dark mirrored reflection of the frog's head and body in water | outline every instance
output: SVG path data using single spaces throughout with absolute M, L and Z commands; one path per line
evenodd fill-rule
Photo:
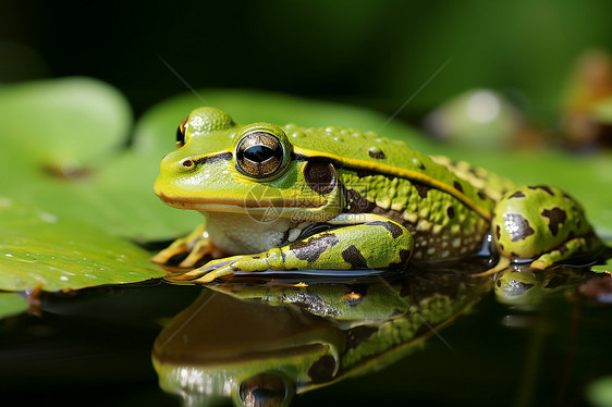
M 219 397 L 236 406 L 286 406 L 295 393 L 396 361 L 477 303 L 492 282 L 456 272 L 372 280 L 205 288 L 156 340 L 161 387 L 191 406 Z

